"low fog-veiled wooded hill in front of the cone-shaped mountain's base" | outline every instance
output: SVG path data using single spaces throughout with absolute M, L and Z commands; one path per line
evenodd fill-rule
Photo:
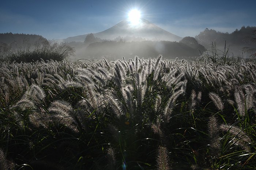
M 192 40 L 191 40 L 192 39 Z M 194 41 L 193 41 L 194 40 Z M 193 42 L 192 42 L 193 41 Z M 186 37 L 178 42 L 171 41 L 102 41 L 90 43 L 76 48 L 76 58 L 133 58 L 138 55 L 143 58 L 154 58 L 162 54 L 164 58 L 199 56 L 204 47 L 193 37 Z

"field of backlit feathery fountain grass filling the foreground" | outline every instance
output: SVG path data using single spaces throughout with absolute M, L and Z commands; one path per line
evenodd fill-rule
M 256 65 L 1 64 L 0 169 L 256 169 Z

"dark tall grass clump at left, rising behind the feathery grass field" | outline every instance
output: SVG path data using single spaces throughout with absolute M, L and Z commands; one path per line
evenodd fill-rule
M 49 42 L 39 39 L 31 43 L 29 40 L 21 42 L 14 41 L 10 45 L 2 44 L 0 47 L 0 59 L 9 62 L 35 62 L 37 60 L 57 60 L 68 59 L 74 55 L 74 48 L 66 44 Z

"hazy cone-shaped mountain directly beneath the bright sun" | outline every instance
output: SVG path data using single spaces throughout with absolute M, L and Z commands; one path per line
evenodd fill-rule
M 78 35 L 74 37 L 68 37 L 63 39 L 64 42 L 83 42 L 88 34 Z M 113 40 L 116 37 L 126 37 L 134 36 L 141 37 L 146 40 L 166 40 L 166 41 L 180 41 L 182 37 L 174 35 L 164 29 L 158 27 L 157 25 L 151 23 L 146 19 L 141 19 L 139 25 L 132 26 L 128 19 L 121 21 L 120 23 L 114 25 L 113 27 L 106 29 L 105 31 L 94 33 L 95 37 L 100 39 Z

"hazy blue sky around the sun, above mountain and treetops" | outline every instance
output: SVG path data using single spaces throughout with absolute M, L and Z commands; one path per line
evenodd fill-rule
M 233 32 L 256 26 L 256 0 L 1 0 L 0 33 L 29 33 L 47 39 L 97 33 L 137 8 L 142 17 L 178 36 L 205 28 Z

